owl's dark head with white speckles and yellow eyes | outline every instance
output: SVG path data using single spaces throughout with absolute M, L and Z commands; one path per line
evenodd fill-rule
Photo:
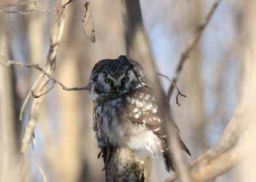
M 88 90 L 93 100 L 99 96 L 116 96 L 146 85 L 144 70 L 135 60 L 121 55 L 95 64 L 89 78 Z

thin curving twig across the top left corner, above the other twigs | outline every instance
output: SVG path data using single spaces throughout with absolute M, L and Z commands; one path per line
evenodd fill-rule
M 56 12 L 59 10 L 63 10 L 65 9 L 65 7 L 67 5 L 69 5 L 69 3 L 71 3 L 74 0 L 69 0 L 67 1 L 67 3 L 65 3 L 64 5 L 60 6 L 59 8 L 53 9 L 53 10 L 46 10 L 46 9 L 39 9 L 37 7 L 35 7 L 35 9 L 30 9 L 30 10 L 24 10 L 24 11 L 14 11 L 14 10 L 4 10 L 4 9 L 0 9 L 0 12 L 4 12 L 4 13 L 14 13 L 14 14 L 31 14 L 33 12 Z

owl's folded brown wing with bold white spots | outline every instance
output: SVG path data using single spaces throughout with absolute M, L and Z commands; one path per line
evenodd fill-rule
M 125 116 L 136 126 L 146 127 L 150 131 L 153 131 L 161 140 L 167 142 L 167 132 L 163 125 L 163 119 L 161 118 L 161 112 L 155 103 L 155 97 L 152 94 L 150 88 L 141 87 L 132 90 L 125 96 Z M 172 122 L 180 140 L 182 149 L 189 155 L 189 149 L 185 146 L 182 138 L 180 138 L 180 130 L 174 122 Z

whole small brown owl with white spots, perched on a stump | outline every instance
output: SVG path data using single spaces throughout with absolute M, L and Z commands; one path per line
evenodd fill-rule
M 125 56 L 99 61 L 91 72 L 88 89 L 94 103 L 93 129 L 99 148 L 146 149 L 164 161 L 168 172 L 174 170 L 161 112 L 138 62 Z M 181 139 L 180 144 L 189 153 Z

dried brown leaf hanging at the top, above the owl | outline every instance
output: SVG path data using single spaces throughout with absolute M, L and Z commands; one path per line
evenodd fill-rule
M 91 42 L 95 42 L 95 29 L 93 16 L 91 14 L 91 6 L 89 5 L 89 2 L 86 2 L 84 6 L 86 8 L 86 14 L 84 16 L 84 33 Z

